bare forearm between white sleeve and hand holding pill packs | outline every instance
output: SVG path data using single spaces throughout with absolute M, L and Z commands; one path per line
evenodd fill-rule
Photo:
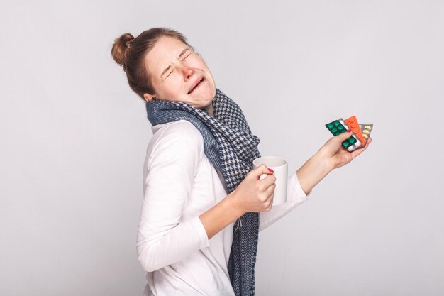
M 333 168 L 334 165 L 331 163 L 331 160 L 324 158 L 321 153 L 316 153 L 309 158 L 309 160 L 296 171 L 299 184 L 305 194 L 308 194 Z

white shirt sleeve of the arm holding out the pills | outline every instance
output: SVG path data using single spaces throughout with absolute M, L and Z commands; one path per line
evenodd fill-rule
M 309 197 L 311 197 L 311 191 L 308 194 L 305 194 L 299 184 L 296 172 L 294 172 L 287 180 L 287 202 L 272 206 L 272 209 L 268 212 L 260 212 L 259 231 L 264 230 L 277 220 L 281 219 L 283 216 L 291 212 L 292 209 L 309 199 Z

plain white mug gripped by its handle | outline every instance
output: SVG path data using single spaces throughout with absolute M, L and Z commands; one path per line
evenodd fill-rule
M 252 162 L 253 170 L 260 165 L 267 165 L 267 168 L 274 170 L 274 177 L 276 177 L 276 187 L 274 188 L 273 205 L 284 204 L 287 202 L 287 175 L 288 163 L 284 158 L 277 156 L 263 156 L 256 158 Z M 267 177 L 267 174 L 260 175 L 259 180 Z

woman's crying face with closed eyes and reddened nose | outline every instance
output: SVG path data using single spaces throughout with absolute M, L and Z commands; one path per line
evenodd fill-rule
M 145 100 L 180 101 L 213 115 L 216 85 L 202 58 L 182 41 L 171 37 L 157 40 L 145 55 L 145 65 L 155 94 Z

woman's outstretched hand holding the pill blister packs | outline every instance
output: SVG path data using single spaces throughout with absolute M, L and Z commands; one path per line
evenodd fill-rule
M 324 146 L 322 146 L 319 149 L 318 153 L 319 155 L 321 155 L 321 158 L 329 160 L 329 162 L 331 162 L 332 164 L 333 169 L 340 168 L 343 165 L 350 163 L 350 161 L 352 161 L 353 158 L 364 152 L 364 150 L 367 149 L 369 144 L 372 143 L 372 138 L 369 137 L 367 139 L 367 143 L 365 143 L 364 148 L 354 150 L 350 153 L 348 152 L 347 149 L 342 147 L 343 141 L 350 138 L 350 136 L 351 133 L 348 132 L 341 133 L 338 136 L 330 138 L 324 144 Z

